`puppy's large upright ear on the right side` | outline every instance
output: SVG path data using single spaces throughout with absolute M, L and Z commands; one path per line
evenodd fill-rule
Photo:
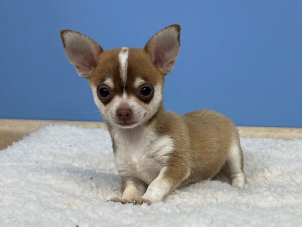
M 164 74 L 173 70 L 180 49 L 180 26 L 170 25 L 156 33 L 145 45 L 155 67 Z

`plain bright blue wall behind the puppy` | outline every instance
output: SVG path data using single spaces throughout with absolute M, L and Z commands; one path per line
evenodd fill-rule
M 302 127 L 302 1 L 0 2 L 0 118 L 100 121 L 59 31 L 103 48 L 143 47 L 182 26 L 165 106 L 209 108 L 237 125 Z M 188 101 L 189 100 L 189 101 Z

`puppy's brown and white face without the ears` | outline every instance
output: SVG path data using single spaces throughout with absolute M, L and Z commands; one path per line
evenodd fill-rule
M 89 77 L 96 105 L 107 123 L 133 128 L 147 122 L 162 103 L 164 74 L 142 49 L 104 51 Z

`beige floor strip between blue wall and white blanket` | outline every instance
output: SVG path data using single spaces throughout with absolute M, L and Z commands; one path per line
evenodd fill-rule
M 0 119 L 0 150 L 5 149 L 13 142 L 21 140 L 24 136 L 41 126 L 48 124 L 74 125 L 83 128 L 106 128 L 105 124 L 102 122 Z M 238 129 L 241 136 L 302 139 L 302 128 L 238 127 Z

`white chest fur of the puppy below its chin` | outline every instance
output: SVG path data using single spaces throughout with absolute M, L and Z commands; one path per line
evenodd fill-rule
M 149 185 L 157 178 L 173 151 L 169 136 L 159 137 L 153 130 L 116 129 L 112 132 L 115 142 L 115 165 L 122 177 L 140 179 Z

